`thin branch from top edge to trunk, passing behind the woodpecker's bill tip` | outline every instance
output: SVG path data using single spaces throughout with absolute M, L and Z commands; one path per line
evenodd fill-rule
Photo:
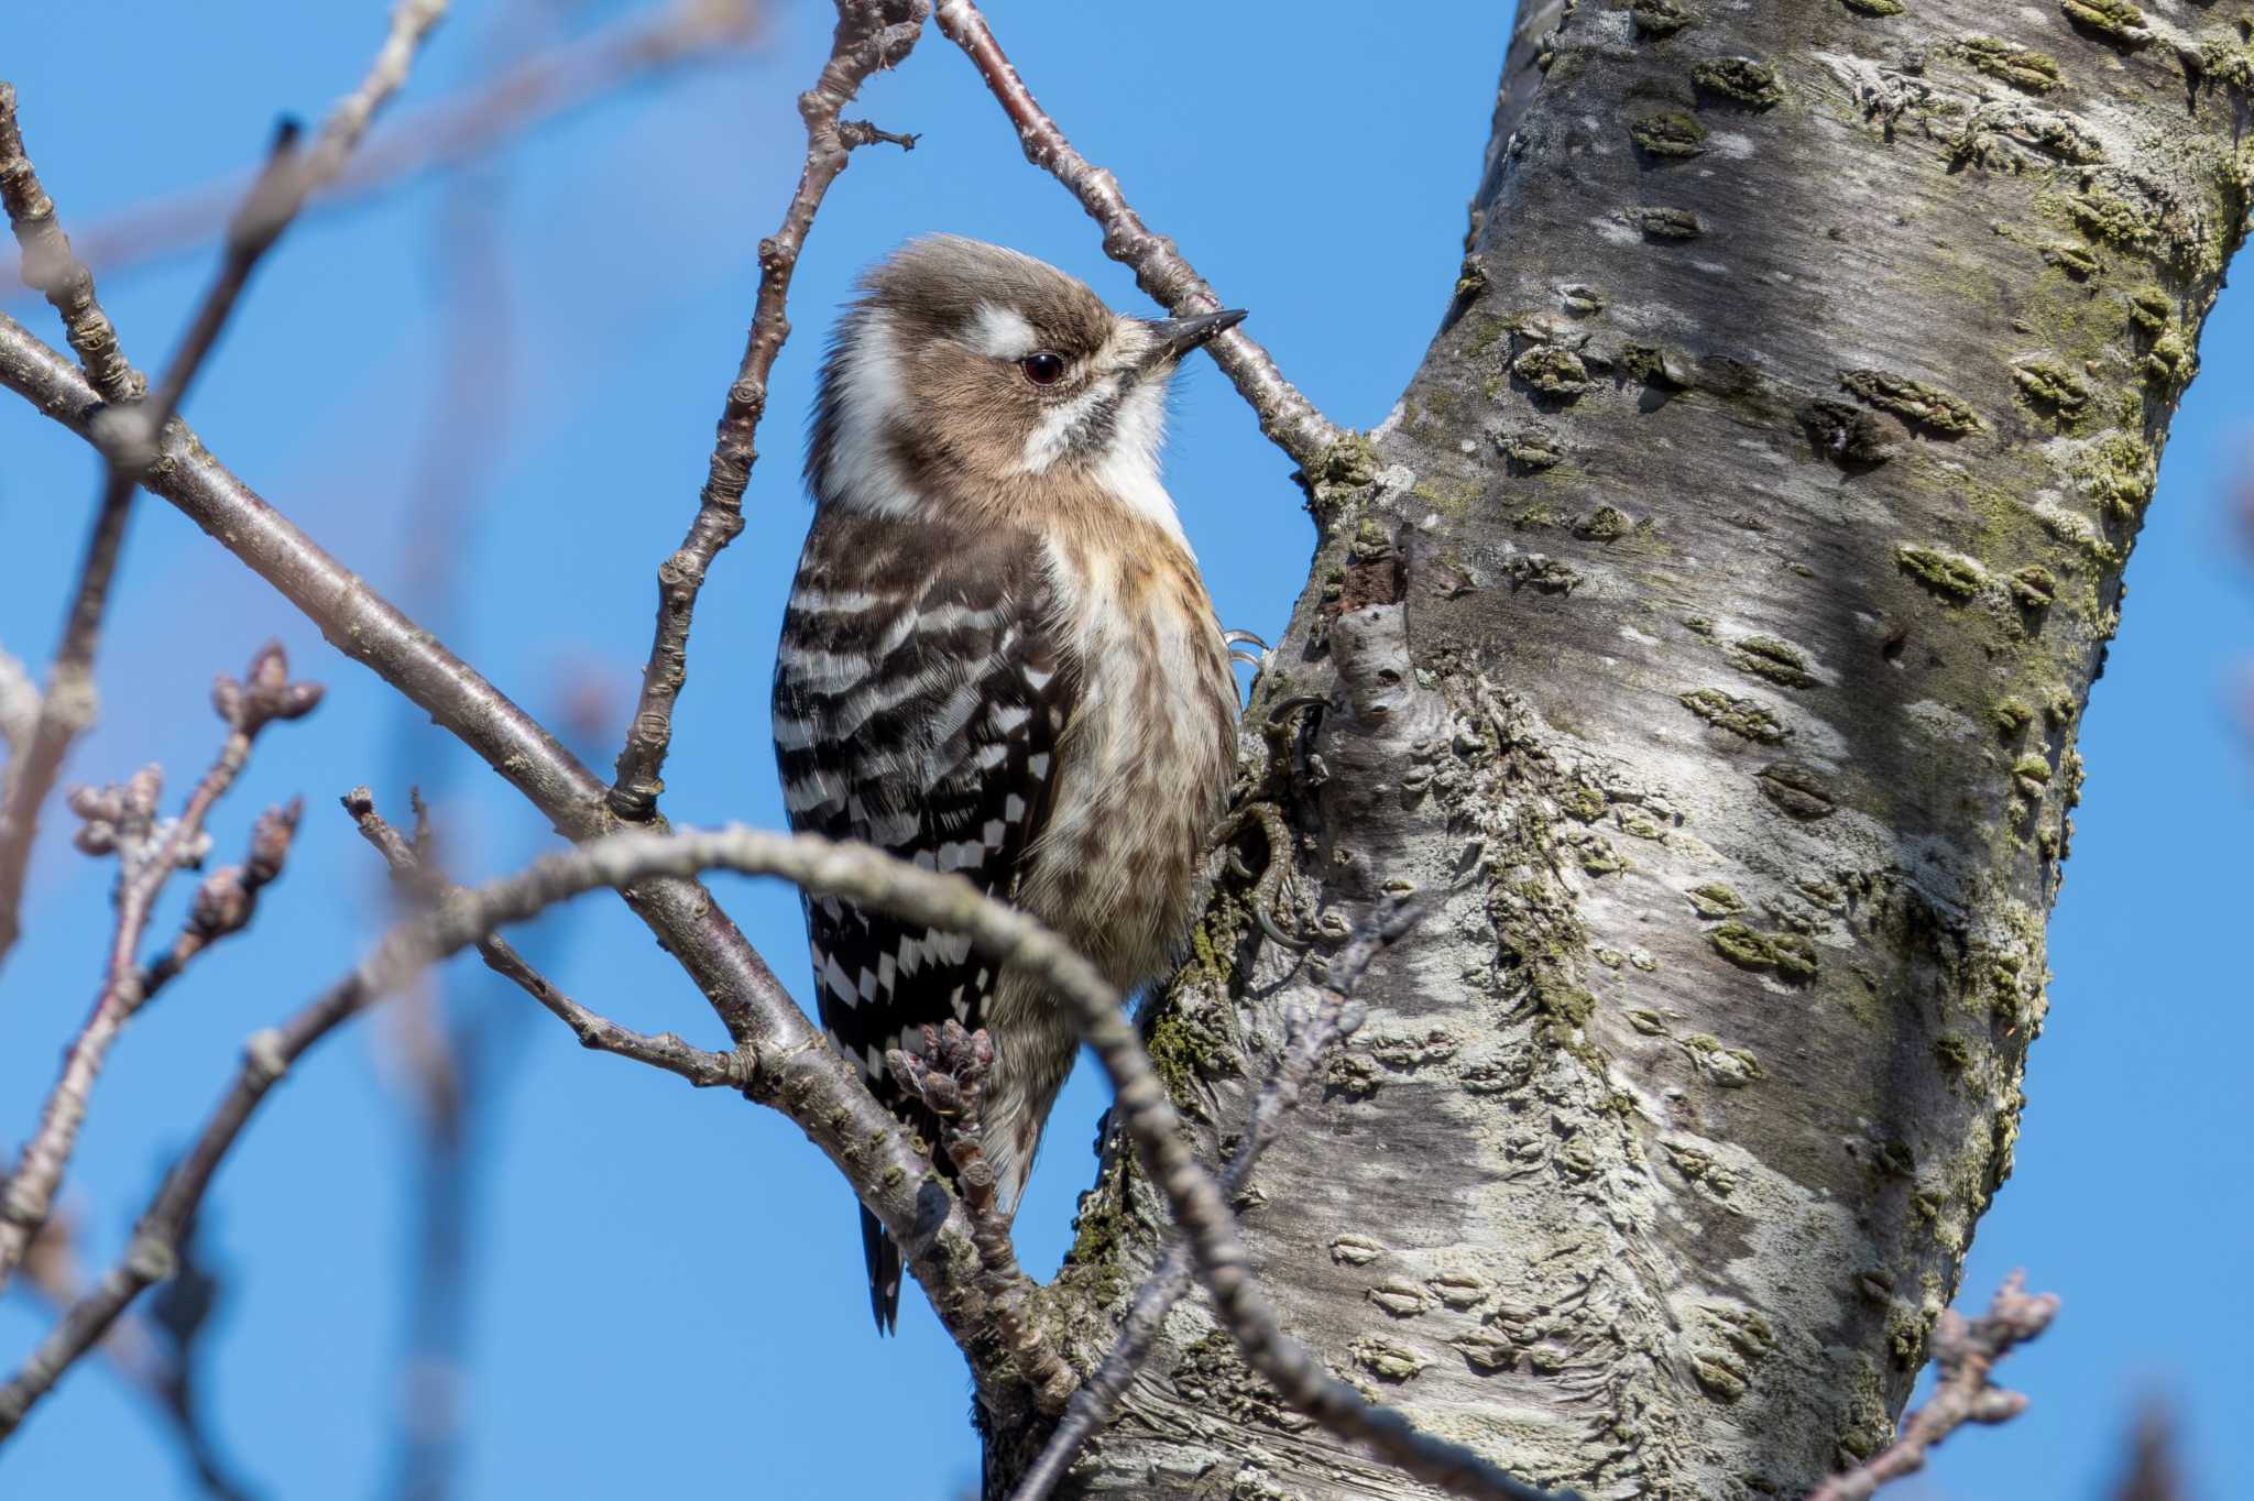
M 1073 151 L 1073 142 L 1064 137 L 1057 122 L 1026 88 L 1026 79 L 1003 56 L 1001 43 L 994 41 L 978 7 L 971 0 L 940 0 L 933 18 L 940 23 L 940 32 L 969 54 L 978 77 L 1010 115 L 1010 124 L 1017 126 L 1017 137 L 1026 146 L 1026 160 L 1064 183 L 1080 198 L 1089 219 L 1102 225 L 1104 255 L 1134 270 L 1136 286 L 1177 316 L 1219 311 L 1222 300 L 1213 286 L 1181 257 L 1170 237 L 1154 234 L 1143 223 L 1143 216 L 1120 194 L 1118 178 Z M 1310 476 L 1319 473 L 1325 453 L 1341 437 L 1339 428 L 1296 385 L 1283 379 L 1269 352 L 1242 327 L 1213 338 L 1206 349 L 1258 412 L 1260 430 L 1267 433 L 1269 442 L 1289 453 Z

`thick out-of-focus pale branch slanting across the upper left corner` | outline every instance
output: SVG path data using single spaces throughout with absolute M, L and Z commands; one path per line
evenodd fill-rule
M 669 68 L 721 56 L 757 36 L 760 11 L 757 0 L 674 0 L 656 16 L 539 52 L 376 133 L 347 171 L 316 192 L 307 212 L 370 198 L 496 151 Z M 86 228 L 79 252 L 113 275 L 189 252 L 225 228 L 248 187 L 250 174 L 237 174 L 124 210 Z

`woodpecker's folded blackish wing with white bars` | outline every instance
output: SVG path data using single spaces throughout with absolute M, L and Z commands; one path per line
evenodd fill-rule
M 782 622 L 775 757 L 793 829 L 877 845 L 1008 897 L 1048 809 L 1071 692 L 1030 548 L 917 557 L 906 527 L 823 516 Z M 888 1048 L 978 1028 L 969 940 L 807 902 L 820 1019 L 881 1100 Z

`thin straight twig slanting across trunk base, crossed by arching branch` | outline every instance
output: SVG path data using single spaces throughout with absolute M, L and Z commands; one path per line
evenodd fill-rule
M 1298 1104 L 1301 1091 L 1314 1080 L 1323 1053 L 1361 1025 L 1361 1007 L 1352 1005 L 1355 987 L 1379 951 L 1400 942 L 1409 929 L 1425 920 L 1425 908 L 1416 904 L 1393 904 L 1373 920 L 1355 929 L 1346 947 L 1330 960 L 1325 983 L 1312 1007 L 1294 1005 L 1285 1016 L 1283 1055 L 1253 1100 L 1251 1120 L 1244 1125 L 1244 1140 L 1222 1170 L 1222 1192 L 1231 1201 L 1251 1181 L 1260 1154 L 1276 1140 L 1283 1118 Z M 1159 1343 L 1165 1316 L 1190 1291 L 1190 1246 L 1174 1237 L 1159 1267 L 1152 1269 L 1143 1287 L 1136 1289 L 1134 1305 L 1120 1323 L 1118 1339 L 1104 1364 L 1073 1393 L 1064 1418 L 1050 1431 L 1032 1467 L 1019 1478 L 1010 1501 L 1044 1501 L 1064 1472 L 1073 1467 L 1080 1449 L 1111 1422 L 1120 1397 L 1134 1384 L 1136 1373 L 1150 1361 Z

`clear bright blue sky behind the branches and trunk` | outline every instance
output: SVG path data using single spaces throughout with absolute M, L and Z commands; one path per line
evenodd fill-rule
M 0 72 L 23 95 L 34 160 L 65 223 L 248 160 L 279 110 L 316 119 L 358 79 L 379 0 L 205 7 L 7 7 Z M 408 108 L 473 77 L 507 7 L 460 5 Z M 570 27 L 633 14 L 554 7 Z M 1454 282 L 1508 7 L 1321 0 L 1219 7 L 994 0 L 1041 99 L 1129 198 L 1172 232 L 1224 300 L 1334 419 L 1384 417 Z M 99 25 L 90 14 L 106 14 Z M 1183 36 L 1228 59 L 1188 90 Z M 1447 45 L 1431 45 L 1447 36 Z M 460 568 L 449 640 L 543 717 L 609 703 L 615 723 L 649 633 L 651 572 L 694 505 L 712 419 L 755 288 L 753 246 L 798 171 L 793 97 L 827 43 L 827 7 L 791 5 L 755 56 L 640 88 L 478 169 L 300 225 L 261 270 L 189 399 L 205 442 L 379 590 L 428 572 L 412 532 Z M 1199 77 L 1210 68 L 1199 65 Z M 101 86 L 95 86 L 95 79 Z M 1332 81 L 1350 79 L 1350 88 Z M 1141 297 L 1091 223 L 1017 142 L 938 34 L 852 110 L 920 131 L 913 156 L 857 153 L 798 273 L 798 334 L 775 372 L 748 530 L 696 618 L 667 766 L 674 818 L 780 825 L 764 694 L 807 507 L 798 458 L 814 361 L 854 270 L 911 232 L 1008 241 Z M 1341 216 L 1341 198 L 1359 223 Z M 449 205 L 485 212 L 494 261 L 444 255 Z M 1305 232 L 1323 205 L 1321 232 Z M 458 221 L 455 221 L 458 223 Z M 169 352 L 207 255 L 119 275 L 104 293 L 142 365 Z M 442 370 L 449 277 L 473 288 L 491 374 L 473 424 Z M 52 338 L 52 318 L 14 297 Z M 2051 1016 L 2029 1073 L 2017 1176 L 1972 1249 L 1968 1303 L 2011 1267 L 2065 1312 L 2011 1366 L 2033 1409 L 1961 1436 L 1932 1496 L 2098 1496 L 2135 1402 L 2180 1404 L 2195 1494 L 2247 1467 L 2243 1341 L 2254 1208 L 2240 1062 L 2254 1046 L 2245 931 L 2254 744 L 2236 717 L 2254 658 L 2254 575 L 2236 550 L 2231 478 L 2249 460 L 2254 304 L 2225 295 L 2184 403 L 2159 503 L 2130 566 L 2126 627 L 2083 735 L 2089 787 L 2051 924 Z M 1228 624 L 1274 633 L 1312 532 L 1244 406 L 1206 363 L 1181 381 L 1172 491 Z M 23 403 L 0 401 L 0 642 L 43 663 L 81 545 L 95 464 Z M 419 507 L 419 509 L 417 509 Z M 424 516 L 417 523 L 417 514 Z M 435 514 L 435 516 L 433 516 Z M 435 624 L 435 622 L 433 622 Z M 257 929 L 207 956 L 117 1048 L 70 1197 L 90 1251 L 115 1255 L 156 1174 L 216 1098 L 239 1041 L 343 971 L 383 913 L 372 856 L 336 811 L 356 782 L 385 807 L 435 793 L 458 874 L 514 865 L 539 816 L 401 714 L 372 676 L 162 503 L 140 507 L 101 656 L 104 717 L 70 766 L 115 780 L 156 760 L 176 789 L 207 762 L 210 676 L 279 636 L 322 710 L 282 726 L 214 829 L 241 845 L 257 807 L 304 793 L 307 827 Z M 56 1048 L 95 987 L 106 868 L 50 827 L 29 938 L 0 1005 L 0 1140 L 32 1125 Z M 796 899 L 724 881 L 724 899 L 802 987 Z M 178 895 L 185 895 L 185 883 Z M 160 920 L 160 931 L 171 913 Z M 620 904 L 586 899 L 527 940 L 575 996 L 640 1028 L 710 1041 L 717 1025 Z M 780 1116 L 584 1055 L 476 967 L 451 1005 L 496 1014 L 494 1147 L 478 1188 L 482 1298 L 471 1336 L 469 1496 L 712 1492 L 942 1501 L 974 1474 L 969 1391 L 915 1294 L 897 1341 L 866 1325 L 852 1204 Z M 514 1012 L 512 1012 L 514 1007 Z M 210 1402 L 230 1454 L 275 1496 L 379 1494 L 397 1413 L 399 1264 L 412 1131 L 403 1041 L 381 1019 L 320 1050 L 273 1100 L 214 1188 L 207 1231 L 230 1273 Z M 1059 1104 L 1019 1219 L 1030 1269 L 1055 1267 L 1086 1185 L 1100 1091 Z M 0 1364 L 43 1327 L 0 1303 Z M 0 1449 L 9 1494 L 189 1496 L 167 1433 L 99 1366 Z

